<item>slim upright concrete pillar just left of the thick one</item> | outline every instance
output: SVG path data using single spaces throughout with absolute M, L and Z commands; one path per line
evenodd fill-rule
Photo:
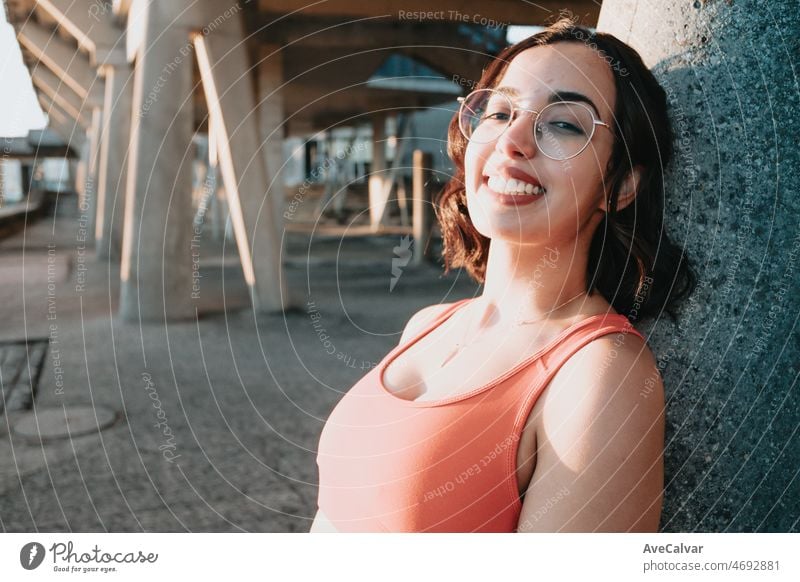
M 95 240 L 98 258 L 117 260 L 122 250 L 133 80 L 128 66 L 105 65 L 103 73 L 106 94 L 100 140 Z

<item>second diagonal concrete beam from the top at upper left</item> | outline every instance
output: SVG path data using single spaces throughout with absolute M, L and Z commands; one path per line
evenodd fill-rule
M 86 55 L 78 48 L 27 20 L 17 32 L 17 40 L 34 58 L 42 62 L 82 100 L 92 105 L 103 103 L 103 82 Z

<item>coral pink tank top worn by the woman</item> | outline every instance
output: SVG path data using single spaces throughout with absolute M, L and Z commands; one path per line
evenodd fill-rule
M 624 315 L 590 316 L 500 377 L 435 401 L 382 383 L 399 354 L 470 299 L 457 301 L 359 380 L 319 442 L 318 505 L 342 532 L 514 532 L 522 502 L 517 448 L 530 412 L 561 365 L 610 333 L 639 337 Z

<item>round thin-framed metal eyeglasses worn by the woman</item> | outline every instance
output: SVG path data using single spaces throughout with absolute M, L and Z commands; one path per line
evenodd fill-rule
M 499 138 L 518 112 L 533 113 L 533 138 L 539 151 L 553 160 L 568 160 L 585 150 L 598 125 L 611 131 L 588 105 L 578 101 L 557 101 L 534 111 L 517 107 L 508 95 L 494 89 L 478 89 L 458 101 L 461 133 L 482 144 Z

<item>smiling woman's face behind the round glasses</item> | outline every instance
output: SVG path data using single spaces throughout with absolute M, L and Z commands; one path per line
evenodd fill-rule
M 562 42 L 519 53 L 494 88 L 511 94 L 516 105 L 535 111 L 550 102 L 552 93 L 579 93 L 591 100 L 587 104 L 595 117 L 613 127 L 613 74 L 595 51 L 581 43 Z M 613 133 L 596 126 L 580 154 L 563 161 L 548 158 L 536 145 L 530 113 L 518 113 L 492 142 L 471 141 L 464 174 L 475 228 L 490 239 L 518 244 L 588 240 L 605 209 L 603 174 L 612 146 Z M 497 188 L 507 186 L 510 178 L 540 186 L 544 193 L 515 198 L 522 203 L 509 204 L 508 198 L 497 195 Z

